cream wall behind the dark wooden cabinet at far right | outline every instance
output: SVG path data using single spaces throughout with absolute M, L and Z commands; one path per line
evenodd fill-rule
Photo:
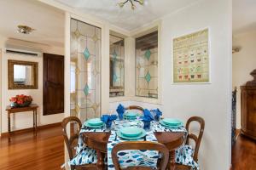
M 253 79 L 250 73 L 256 69 L 256 31 L 233 36 L 233 46 L 241 47 L 240 52 L 233 54 L 233 89 L 236 95 L 236 127 L 241 128 L 241 90 L 240 86 Z

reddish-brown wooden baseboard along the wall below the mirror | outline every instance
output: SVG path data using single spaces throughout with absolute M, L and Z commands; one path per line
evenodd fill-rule
M 51 123 L 51 124 L 47 124 L 47 125 L 38 126 L 37 130 L 45 129 L 45 128 L 49 128 L 49 127 L 61 127 L 61 122 L 55 122 L 55 123 Z M 29 127 L 29 128 L 24 128 L 24 129 L 12 131 L 11 134 L 30 133 L 33 130 L 34 130 L 33 127 Z M 8 137 L 8 136 L 9 136 L 8 132 L 7 133 L 1 133 L 1 138 Z

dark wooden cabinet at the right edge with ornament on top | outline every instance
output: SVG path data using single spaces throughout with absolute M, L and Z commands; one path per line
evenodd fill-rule
M 241 133 L 256 139 L 256 69 L 253 81 L 241 86 Z

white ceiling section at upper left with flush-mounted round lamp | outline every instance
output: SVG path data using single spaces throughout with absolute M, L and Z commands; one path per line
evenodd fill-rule
M 0 0 L 0 35 L 63 47 L 64 13 L 35 0 Z M 36 29 L 29 35 L 17 33 L 18 25 Z

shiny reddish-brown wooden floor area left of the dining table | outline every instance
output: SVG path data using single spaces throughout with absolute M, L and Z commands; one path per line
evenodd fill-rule
M 0 139 L 1 170 L 55 170 L 64 161 L 61 127 L 49 127 L 33 133 L 14 134 L 11 141 Z

